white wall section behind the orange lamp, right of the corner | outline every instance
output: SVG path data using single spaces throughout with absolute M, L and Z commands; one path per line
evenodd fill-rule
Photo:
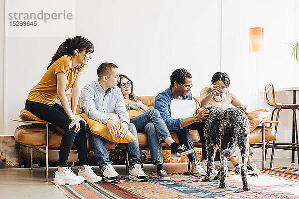
M 223 0 L 222 69 L 230 74 L 230 90 L 250 110 L 270 107 L 264 100 L 268 83 L 273 83 L 275 88 L 299 86 L 299 68 L 293 64 L 290 45 L 299 35 L 298 10 L 297 0 Z M 265 30 L 264 49 L 258 54 L 249 53 L 249 28 L 252 27 Z M 276 99 L 292 103 L 293 94 L 278 92 Z M 281 111 L 280 120 L 277 142 L 292 142 L 291 111 Z M 290 154 L 286 150 L 275 151 L 276 157 L 290 157 Z

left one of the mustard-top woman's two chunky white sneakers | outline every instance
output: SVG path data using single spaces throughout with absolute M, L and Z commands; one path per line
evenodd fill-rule
M 79 185 L 84 182 L 83 176 L 77 176 L 70 167 L 66 167 L 64 172 L 55 172 L 54 183 L 57 185 Z

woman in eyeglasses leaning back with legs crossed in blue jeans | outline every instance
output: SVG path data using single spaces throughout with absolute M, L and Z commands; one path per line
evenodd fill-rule
M 162 119 L 160 112 L 157 109 L 149 109 L 142 101 L 137 100 L 134 95 L 133 82 L 126 75 L 120 75 L 118 87 L 121 88 L 124 99 L 130 101 L 126 103 L 127 110 L 138 110 L 142 114 L 133 118 L 130 122 L 135 124 L 137 132 L 146 133 L 149 143 L 149 152 L 151 162 L 157 167 L 157 177 L 159 180 L 170 180 L 166 171 L 163 169 L 163 157 L 161 143 L 167 143 L 171 148 L 171 156 L 179 157 L 188 155 L 193 152 L 192 149 L 187 149 L 185 145 L 176 143 Z

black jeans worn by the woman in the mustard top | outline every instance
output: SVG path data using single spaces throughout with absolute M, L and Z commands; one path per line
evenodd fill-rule
M 71 120 L 63 107 L 58 103 L 50 106 L 44 103 L 26 100 L 25 109 L 35 116 L 50 122 L 65 131 L 60 142 L 58 166 L 67 166 L 67 159 L 74 142 L 78 151 L 80 165 L 87 165 L 86 132 L 88 127 L 85 126 L 83 121 L 79 121 L 80 130 L 78 133 L 75 133 L 76 125 L 69 128 Z

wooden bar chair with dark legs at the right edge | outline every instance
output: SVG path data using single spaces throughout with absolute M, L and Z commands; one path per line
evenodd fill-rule
M 271 161 L 270 161 L 270 167 L 273 165 L 273 156 L 274 156 L 274 149 L 285 149 L 285 150 L 292 150 L 292 148 L 297 148 L 297 155 L 298 155 L 298 162 L 299 162 L 299 142 L 298 142 L 298 130 L 297 130 L 297 118 L 296 118 L 296 110 L 299 110 L 299 104 L 283 104 L 279 103 L 275 99 L 275 90 L 273 84 L 267 84 L 265 87 L 266 92 L 266 101 L 270 106 L 274 106 L 275 108 L 272 111 L 271 120 L 274 117 L 274 113 L 277 110 L 276 113 L 276 120 L 279 120 L 279 113 L 282 109 L 291 109 L 293 111 L 293 122 L 295 123 L 295 135 L 296 135 L 296 143 L 276 143 L 276 139 L 273 140 L 273 143 L 267 142 L 266 144 L 266 155 L 268 147 L 272 146 L 272 152 L 271 152 Z M 270 124 L 271 127 L 272 123 Z M 275 135 L 277 137 L 277 126 L 278 123 L 275 124 Z

